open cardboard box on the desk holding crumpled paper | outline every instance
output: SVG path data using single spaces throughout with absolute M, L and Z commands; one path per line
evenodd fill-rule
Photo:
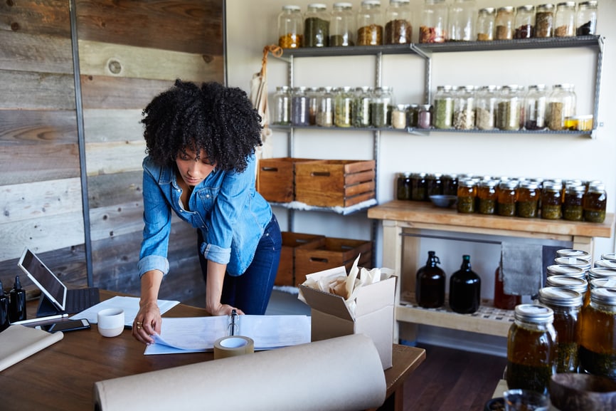
M 336 271 L 339 271 L 341 276 L 346 276 L 344 266 L 315 274 L 330 276 Z M 376 345 L 383 370 L 391 368 L 395 276 L 359 288 L 354 315 L 341 296 L 304 285 L 300 285 L 299 289 L 310 306 L 312 341 L 349 334 L 368 335 Z

